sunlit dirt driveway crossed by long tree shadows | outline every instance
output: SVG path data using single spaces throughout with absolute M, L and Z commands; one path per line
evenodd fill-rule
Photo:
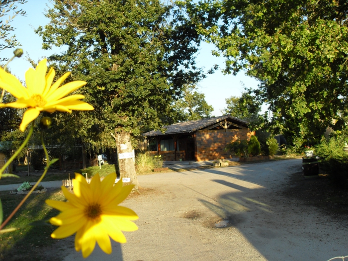
M 139 176 L 143 193 L 123 205 L 139 230 L 103 261 L 327 261 L 348 255 L 347 223 L 283 196 L 301 160 Z M 225 225 L 225 226 L 224 226 Z M 217 227 L 220 226 L 220 227 Z M 73 238 L 65 261 L 83 260 Z

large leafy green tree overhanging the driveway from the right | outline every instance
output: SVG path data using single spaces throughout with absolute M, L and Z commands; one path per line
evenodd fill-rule
M 226 58 L 224 72 L 245 70 L 261 82 L 255 95 L 268 104 L 269 130 L 300 147 L 307 138 L 319 140 L 328 126 L 342 127 L 347 1 L 188 0 L 186 7 L 199 33 Z

